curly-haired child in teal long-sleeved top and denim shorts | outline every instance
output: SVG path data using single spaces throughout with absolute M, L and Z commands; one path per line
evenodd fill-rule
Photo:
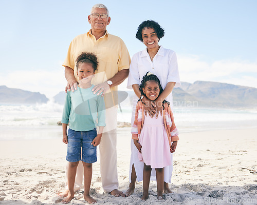
M 88 203 L 96 200 L 89 195 L 92 163 L 97 161 L 96 146 L 100 144 L 105 126 L 105 106 L 101 95 L 94 95 L 91 79 L 97 70 L 98 60 L 93 53 L 82 53 L 76 59 L 78 89 L 67 92 L 63 109 L 63 142 L 68 144 L 66 160 L 68 165 L 68 195 L 62 200 L 68 203 L 74 198 L 74 183 L 79 161 L 84 167 L 84 199 Z M 98 119 L 98 124 L 97 124 Z M 69 130 L 67 135 L 67 124 Z M 99 127 L 97 134 L 96 127 Z M 82 155 L 81 155 L 82 148 Z M 82 157 L 82 158 L 81 158 Z

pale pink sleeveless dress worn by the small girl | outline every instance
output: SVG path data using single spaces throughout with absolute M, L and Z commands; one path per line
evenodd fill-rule
M 163 168 L 172 165 L 169 140 L 163 124 L 163 116 L 158 118 L 144 116 L 143 127 L 138 140 L 142 146 L 138 158 L 151 168 Z

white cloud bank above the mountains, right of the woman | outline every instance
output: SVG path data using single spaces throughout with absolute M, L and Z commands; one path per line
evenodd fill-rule
M 198 56 L 178 55 L 178 63 L 181 81 L 217 81 L 257 88 L 257 62 L 229 59 L 209 64 Z

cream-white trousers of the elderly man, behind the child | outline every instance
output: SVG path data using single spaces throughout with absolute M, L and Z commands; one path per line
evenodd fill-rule
M 105 111 L 105 124 L 101 143 L 99 145 L 100 155 L 100 173 L 103 189 L 109 193 L 118 189 L 118 170 L 117 170 L 117 107 L 108 108 Z M 66 189 L 68 189 L 67 170 L 66 165 Z M 84 168 L 82 161 L 79 162 L 74 191 L 81 188 L 84 175 Z

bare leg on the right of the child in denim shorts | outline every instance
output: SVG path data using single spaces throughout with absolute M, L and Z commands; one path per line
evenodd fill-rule
M 84 199 L 88 203 L 92 204 L 97 202 L 96 199 L 94 199 L 89 195 L 91 179 L 92 179 L 92 163 L 86 163 L 83 161 L 83 166 L 84 166 L 84 186 L 85 186 Z

